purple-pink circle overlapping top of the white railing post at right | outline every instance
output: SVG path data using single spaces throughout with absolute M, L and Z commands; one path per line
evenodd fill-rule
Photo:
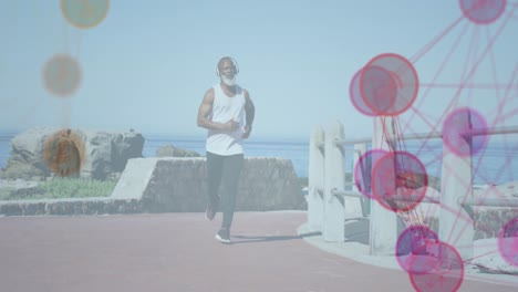
M 444 121 L 442 133 L 444 145 L 460 157 L 476 155 L 487 145 L 486 119 L 469 107 L 453 111 Z

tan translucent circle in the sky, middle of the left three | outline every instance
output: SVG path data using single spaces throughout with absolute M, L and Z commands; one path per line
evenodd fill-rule
M 45 88 L 61 97 L 72 95 L 81 83 L 81 69 L 77 61 L 68 54 L 52 56 L 43 67 Z

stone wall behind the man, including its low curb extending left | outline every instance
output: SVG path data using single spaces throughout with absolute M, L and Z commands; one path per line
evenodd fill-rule
M 128 160 L 110 197 L 0 201 L 0 213 L 39 216 L 205 211 L 206 181 L 204 157 L 134 158 Z M 224 188 L 220 189 L 224 192 Z M 301 190 L 291 160 L 246 158 L 236 210 L 304 210 L 307 205 Z

